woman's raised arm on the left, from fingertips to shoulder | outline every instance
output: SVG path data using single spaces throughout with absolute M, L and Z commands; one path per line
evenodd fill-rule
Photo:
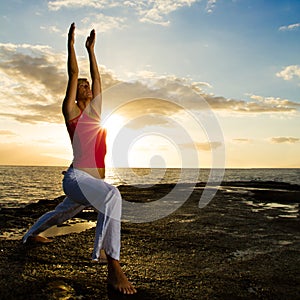
M 62 111 L 66 121 L 75 118 L 80 112 L 76 105 L 76 92 L 78 82 L 78 65 L 74 49 L 75 24 L 72 23 L 68 33 L 68 86 L 63 101 Z

